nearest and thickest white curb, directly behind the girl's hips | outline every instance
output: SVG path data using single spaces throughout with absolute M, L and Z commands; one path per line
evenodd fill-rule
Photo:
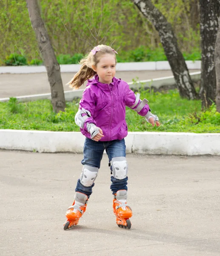
M 0 149 L 83 153 L 80 132 L 0 130 Z M 220 134 L 129 132 L 127 153 L 220 155 Z

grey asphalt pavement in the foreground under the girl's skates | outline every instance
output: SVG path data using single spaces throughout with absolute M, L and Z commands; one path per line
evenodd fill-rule
M 128 154 L 126 230 L 115 223 L 104 154 L 85 214 L 64 231 L 82 157 L 0 151 L 1 256 L 220 255 L 220 156 Z

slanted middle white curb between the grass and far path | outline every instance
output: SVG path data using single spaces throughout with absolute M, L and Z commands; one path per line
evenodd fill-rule
M 201 72 L 193 72 L 190 73 L 192 80 L 199 80 L 201 76 Z M 173 85 L 175 84 L 174 76 L 166 76 L 166 77 L 160 77 L 155 79 L 148 79 L 148 80 L 140 80 L 136 82 L 129 82 L 129 87 L 131 89 L 138 89 L 140 87 L 155 87 L 160 88 L 161 86 L 166 85 Z M 70 91 L 64 91 L 65 100 L 66 101 L 72 101 L 74 98 L 81 98 L 83 95 L 83 90 L 70 90 Z M 26 96 L 17 96 L 17 101 L 19 102 L 29 102 L 39 99 L 51 99 L 51 93 L 44 93 L 44 94 L 34 94 L 34 95 L 26 95 Z M 7 102 L 9 101 L 9 98 L 1 98 L 0 102 Z

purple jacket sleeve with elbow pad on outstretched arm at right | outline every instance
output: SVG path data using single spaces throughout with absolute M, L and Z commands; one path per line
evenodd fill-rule
M 134 111 L 137 111 L 138 115 L 145 116 L 150 110 L 149 105 L 147 104 L 148 100 L 140 100 L 140 94 L 137 93 L 137 95 L 135 95 L 134 92 L 129 88 L 128 84 L 126 89 L 126 106 Z

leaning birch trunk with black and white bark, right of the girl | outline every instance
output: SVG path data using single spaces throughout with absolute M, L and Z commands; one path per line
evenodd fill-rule
M 197 93 L 189 76 L 189 70 L 177 45 L 171 24 L 150 0 L 131 0 L 159 32 L 160 41 L 169 61 L 180 96 L 197 99 Z

